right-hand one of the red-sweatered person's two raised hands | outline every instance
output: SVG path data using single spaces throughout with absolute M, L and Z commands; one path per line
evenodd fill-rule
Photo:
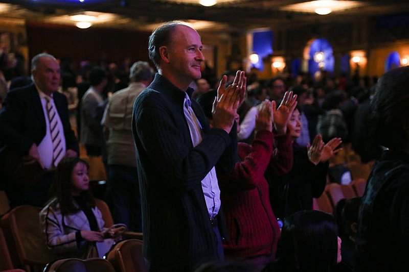
M 288 120 L 296 106 L 297 94 L 292 95 L 292 91 L 284 93 L 283 100 L 277 110 L 276 102 L 272 102 L 273 121 L 278 134 L 285 134 L 287 132 Z

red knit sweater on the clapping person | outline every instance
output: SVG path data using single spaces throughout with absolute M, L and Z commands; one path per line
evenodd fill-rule
M 259 131 L 252 145 L 240 142 L 238 152 L 241 162 L 236 163 L 233 172 L 218 176 L 230 237 L 223 244 L 225 257 L 275 255 L 280 229 L 271 210 L 264 171 L 270 167 L 275 174 L 283 175 L 292 168 L 291 139 Z

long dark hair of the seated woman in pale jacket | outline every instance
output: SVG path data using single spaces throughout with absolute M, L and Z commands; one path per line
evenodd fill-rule
M 82 163 L 87 169 L 89 168 L 88 163 L 78 157 L 65 157 L 58 163 L 55 171 L 50 192 L 52 197 L 57 197 L 62 213 L 75 213 L 79 210 L 75 206 L 70 193 L 73 184 L 72 174 L 77 163 Z M 95 199 L 90 190 L 81 192 L 80 196 L 83 197 L 88 207 L 93 208 L 95 206 Z

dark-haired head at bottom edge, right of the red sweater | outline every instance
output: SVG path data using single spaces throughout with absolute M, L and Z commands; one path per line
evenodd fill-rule
M 285 271 L 329 271 L 336 264 L 337 227 L 321 211 L 300 211 L 284 220 L 277 266 Z

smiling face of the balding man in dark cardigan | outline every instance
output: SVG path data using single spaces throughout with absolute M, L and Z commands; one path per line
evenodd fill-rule
M 205 60 L 201 53 L 199 34 L 188 26 L 176 26 L 169 45 L 169 64 L 172 72 L 180 79 L 192 82 L 200 79 L 200 64 Z

